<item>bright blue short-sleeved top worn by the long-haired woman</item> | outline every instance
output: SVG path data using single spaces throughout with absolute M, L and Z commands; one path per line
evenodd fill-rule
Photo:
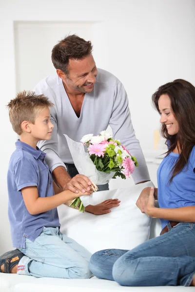
M 179 154 L 171 152 L 163 159 L 157 170 L 158 204 L 160 208 L 179 208 L 195 206 L 195 146 L 187 166 L 185 166 L 169 184 L 172 168 Z M 169 220 L 160 219 L 162 228 Z

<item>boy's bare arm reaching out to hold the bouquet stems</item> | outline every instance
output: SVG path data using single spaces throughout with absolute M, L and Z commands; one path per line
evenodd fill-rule
M 58 207 L 65 202 L 71 201 L 82 195 L 90 195 L 90 193 L 75 194 L 69 190 L 51 197 L 39 197 L 37 186 L 27 186 L 21 189 L 23 200 L 28 212 L 31 215 L 36 215 Z

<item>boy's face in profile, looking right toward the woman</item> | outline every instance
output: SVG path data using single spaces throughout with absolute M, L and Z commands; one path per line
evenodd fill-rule
M 54 125 L 50 121 L 50 110 L 45 108 L 40 110 L 35 124 L 31 124 L 31 135 L 39 140 L 50 140 Z

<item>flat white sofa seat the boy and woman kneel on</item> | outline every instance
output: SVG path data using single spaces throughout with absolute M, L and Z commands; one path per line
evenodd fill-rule
M 98 279 L 35 278 L 0 273 L 0 292 L 193 292 L 194 287 L 124 287 Z

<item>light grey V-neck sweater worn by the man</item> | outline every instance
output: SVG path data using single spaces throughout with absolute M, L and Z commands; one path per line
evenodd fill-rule
M 83 135 L 89 133 L 98 135 L 110 125 L 113 136 L 119 139 L 121 144 L 126 146 L 131 155 L 137 159 L 138 167 L 132 175 L 134 182 L 150 180 L 131 122 L 127 93 L 116 76 L 98 69 L 94 90 L 85 93 L 79 118 L 57 74 L 42 79 L 34 91 L 37 94 L 44 94 L 54 104 L 50 110 L 51 122 L 54 124 L 52 138 L 48 141 L 40 141 L 38 145 L 47 153 L 46 162 L 51 171 L 58 166 L 65 167 L 64 163 L 73 163 L 63 134 L 79 142 Z

